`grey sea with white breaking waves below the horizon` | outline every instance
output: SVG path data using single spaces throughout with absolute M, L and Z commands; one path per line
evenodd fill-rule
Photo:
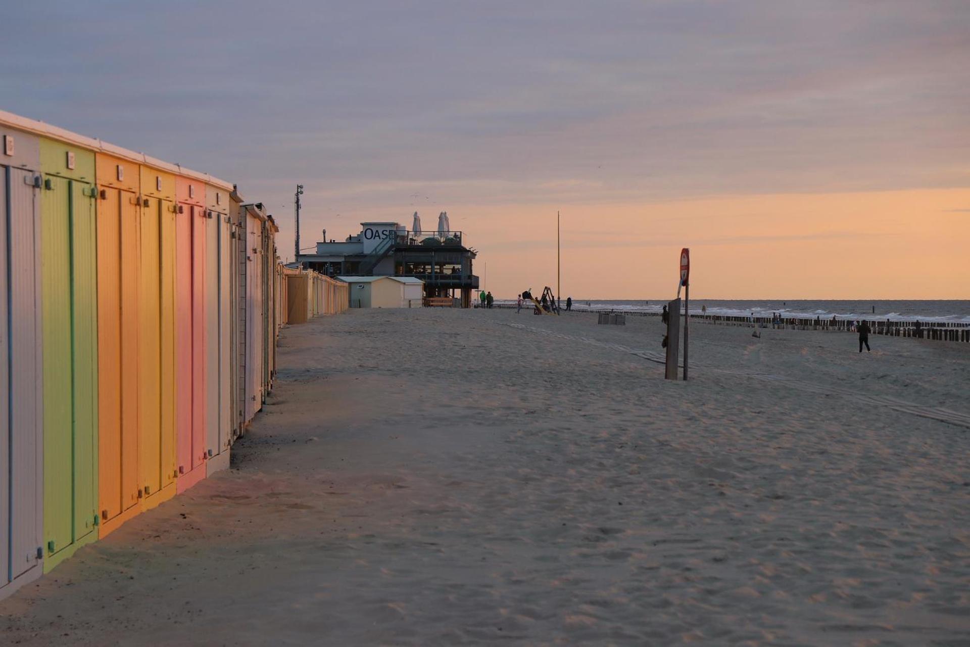
M 573 299 L 574 310 L 616 310 L 617 312 L 660 312 L 666 299 L 609 300 Z M 515 301 L 497 299 L 498 304 Z M 707 314 L 723 316 L 771 316 L 777 312 L 785 317 L 858 320 L 890 319 L 892 321 L 952 322 L 970 325 L 970 300 L 958 301 L 810 301 L 810 300 L 719 300 L 692 299 L 691 311 L 706 308 Z

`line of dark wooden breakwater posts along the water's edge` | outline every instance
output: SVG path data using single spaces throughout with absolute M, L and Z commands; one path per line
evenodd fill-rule
M 494 307 L 515 309 L 515 304 L 496 304 Z M 533 307 L 523 305 L 523 310 L 532 312 Z M 565 311 L 565 310 L 564 310 Z M 636 312 L 615 309 L 574 309 L 572 312 L 581 314 L 626 314 L 627 316 L 659 317 L 660 312 Z M 691 312 L 691 321 L 714 324 L 718 326 L 746 326 L 748 328 L 769 328 L 775 330 L 814 330 L 829 333 L 855 333 L 857 324 L 869 324 L 870 335 L 884 335 L 888 337 L 908 337 L 919 340 L 932 341 L 962 341 L 970 343 L 970 324 L 955 321 L 921 321 L 917 328 L 916 321 L 892 321 L 887 319 L 822 319 L 808 317 L 780 317 L 778 319 L 766 317 L 752 317 L 741 315 L 705 314 Z

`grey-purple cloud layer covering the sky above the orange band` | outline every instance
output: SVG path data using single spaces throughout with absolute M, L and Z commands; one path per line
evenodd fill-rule
M 4 109 L 266 204 L 298 181 L 308 210 L 359 213 L 967 185 L 960 0 L 57 0 L 4 21 Z

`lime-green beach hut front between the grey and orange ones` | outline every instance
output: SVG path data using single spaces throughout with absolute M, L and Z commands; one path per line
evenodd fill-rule
M 64 146 L 42 142 L 45 571 L 95 539 L 98 523 L 94 189 L 70 177 L 77 168 L 93 180 L 94 156 L 66 157 L 63 169 Z

